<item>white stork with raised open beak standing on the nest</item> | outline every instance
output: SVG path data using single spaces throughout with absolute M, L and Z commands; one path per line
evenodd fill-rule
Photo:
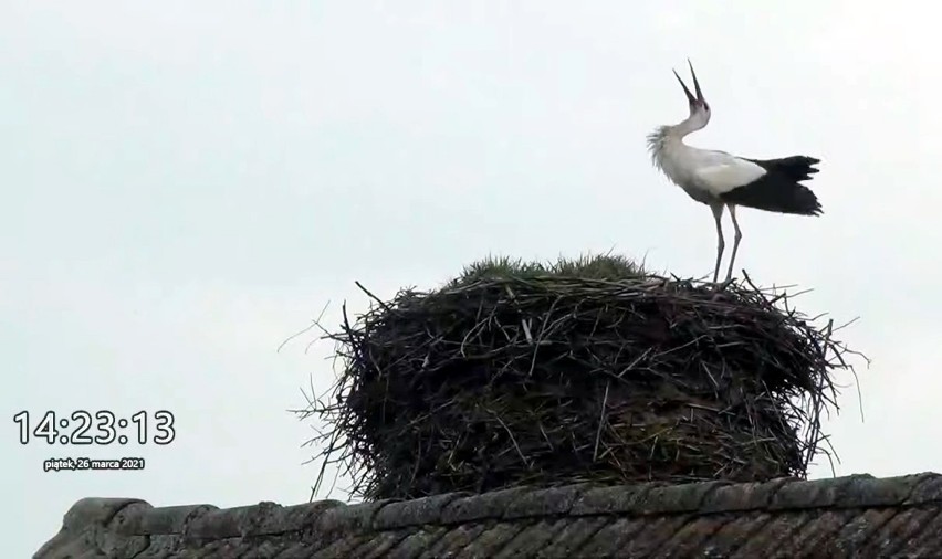
M 758 210 L 798 215 L 819 215 L 821 205 L 817 197 L 807 187 L 800 184 L 818 172 L 814 166 L 819 159 L 807 156 L 792 156 L 782 159 L 747 159 L 725 151 L 698 149 L 683 143 L 683 138 L 697 131 L 710 122 L 710 105 L 703 98 L 700 83 L 688 60 L 693 76 L 697 96 L 690 93 L 687 84 L 673 72 L 690 102 L 690 116 L 673 126 L 660 126 L 648 135 L 648 149 L 655 167 L 660 169 L 674 184 L 682 188 L 690 198 L 704 203 L 713 210 L 716 221 L 716 266 L 713 283 L 720 274 L 720 261 L 723 257 L 725 242 L 721 219 L 723 208 L 730 209 L 730 218 L 736 230 L 733 254 L 726 272 L 726 283 L 733 276 L 733 263 L 740 247 L 742 232 L 736 222 L 736 205 Z

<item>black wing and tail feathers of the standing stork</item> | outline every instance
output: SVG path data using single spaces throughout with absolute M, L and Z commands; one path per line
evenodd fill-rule
M 757 210 L 798 215 L 820 215 L 821 204 L 812 190 L 799 184 L 818 172 L 819 159 L 792 156 L 782 159 L 750 159 L 767 172 L 760 179 L 722 196 L 724 202 Z

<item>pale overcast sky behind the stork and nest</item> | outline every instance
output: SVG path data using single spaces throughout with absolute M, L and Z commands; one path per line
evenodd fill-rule
M 645 151 L 650 129 L 687 115 L 670 73 L 687 56 L 713 108 L 692 144 L 824 160 L 812 184 L 825 215 L 741 211 L 739 264 L 765 285 L 813 287 L 796 300 L 808 314 L 861 317 L 842 334 L 873 359 L 866 422 L 846 391 L 827 424 L 837 472 L 942 471 L 927 444 L 942 420 L 935 22 L 921 2 L 722 6 L 4 2 L 11 557 L 85 496 L 305 502 L 312 432 L 285 410 L 308 376 L 331 383 L 332 348 L 275 349 L 328 300 L 329 324 L 343 299 L 365 308 L 354 281 L 386 297 L 489 253 L 613 247 L 710 273 L 709 210 Z M 167 409 L 177 439 L 17 443 L 17 411 L 77 409 Z M 42 472 L 83 455 L 147 465 Z

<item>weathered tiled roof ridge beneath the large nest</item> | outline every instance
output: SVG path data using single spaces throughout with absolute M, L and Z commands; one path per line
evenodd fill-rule
M 520 487 L 218 509 L 85 498 L 36 559 L 942 557 L 942 475 Z

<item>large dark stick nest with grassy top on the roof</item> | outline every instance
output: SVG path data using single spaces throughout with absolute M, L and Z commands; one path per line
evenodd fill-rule
M 331 425 L 324 465 L 368 499 L 806 477 L 847 367 L 783 295 L 613 257 L 486 262 L 374 300 L 325 335 L 343 372 L 305 412 Z

